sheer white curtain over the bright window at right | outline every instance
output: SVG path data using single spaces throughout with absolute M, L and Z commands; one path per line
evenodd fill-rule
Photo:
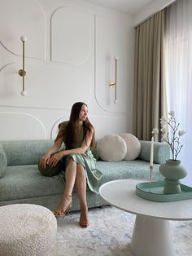
M 186 132 L 178 159 L 188 174 L 181 183 L 192 186 L 192 1 L 177 1 L 169 7 L 165 42 L 168 112 L 175 112 L 179 130 Z

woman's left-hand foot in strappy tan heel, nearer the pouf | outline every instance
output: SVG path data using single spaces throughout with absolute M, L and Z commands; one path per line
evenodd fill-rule
M 63 194 L 53 214 L 55 214 L 55 216 L 65 216 L 66 214 L 68 214 L 71 208 L 72 208 L 72 196 Z

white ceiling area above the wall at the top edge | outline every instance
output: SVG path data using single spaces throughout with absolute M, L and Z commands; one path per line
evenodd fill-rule
M 128 15 L 137 15 L 144 7 L 154 0 L 84 0 L 101 7 L 107 7 Z

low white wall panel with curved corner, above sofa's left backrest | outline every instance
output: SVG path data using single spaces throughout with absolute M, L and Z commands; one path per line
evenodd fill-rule
M 46 129 L 36 117 L 28 113 L 0 112 L 0 140 L 46 139 Z

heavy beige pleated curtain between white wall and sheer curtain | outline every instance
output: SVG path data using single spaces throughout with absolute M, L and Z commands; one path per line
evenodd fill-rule
M 166 9 L 139 24 L 135 36 L 133 134 L 151 140 L 159 118 L 167 115 L 164 33 Z

